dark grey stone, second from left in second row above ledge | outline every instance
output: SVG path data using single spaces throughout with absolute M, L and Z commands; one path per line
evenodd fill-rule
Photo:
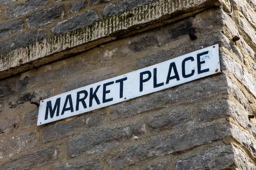
M 57 20 L 64 14 L 61 5 L 44 9 L 43 11 L 30 14 L 26 17 L 26 22 L 29 28 L 36 28 L 38 26 L 45 26 Z

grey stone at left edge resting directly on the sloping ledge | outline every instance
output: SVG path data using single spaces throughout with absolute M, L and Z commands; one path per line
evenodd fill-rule
M 8 40 L 0 42 L 0 55 L 9 53 L 18 48 L 29 46 L 35 42 L 46 39 L 46 33 L 40 29 L 36 32 L 29 33 L 25 32 L 15 37 L 9 38 Z

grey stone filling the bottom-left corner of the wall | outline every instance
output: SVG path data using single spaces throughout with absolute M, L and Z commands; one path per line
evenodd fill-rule
M 58 159 L 58 151 L 54 148 L 45 148 L 33 153 L 22 155 L 1 165 L 3 170 L 36 169 Z

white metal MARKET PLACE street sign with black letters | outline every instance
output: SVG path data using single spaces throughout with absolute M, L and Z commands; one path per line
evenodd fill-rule
M 220 72 L 218 44 L 41 100 L 44 125 Z

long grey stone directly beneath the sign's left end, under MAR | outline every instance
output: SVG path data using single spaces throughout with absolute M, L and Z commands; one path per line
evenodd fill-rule
M 47 125 L 43 127 L 43 142 L 54 141 L 70 136 L 82 128 L 94 127 L 100 125 L 104 120 L 104 113 L 101 111 L 86 113 L 84 116 L 75 118 L 68 122 Z

